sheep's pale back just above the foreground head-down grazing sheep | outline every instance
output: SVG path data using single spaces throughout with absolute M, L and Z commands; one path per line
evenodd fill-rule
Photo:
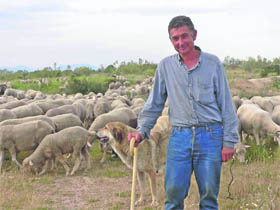
M 71 113 L 53 116 L 50 119 L 55 124 L 56 132 L 73 126 L 82 126 L 80 118 Z

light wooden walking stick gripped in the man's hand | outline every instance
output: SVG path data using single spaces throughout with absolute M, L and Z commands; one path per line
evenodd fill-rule
M 133 137 L 130 140 L 130 155 L 133 157 L 133 173 L 132 173 L 132 187 L 131 187 L 131 201 L 130 201 L 130 210 L 135 209 L 135 188 L 136 188 L 136 173 L 137 173 L 137 155 L 138 148 L 134 147 L 135 138 Z

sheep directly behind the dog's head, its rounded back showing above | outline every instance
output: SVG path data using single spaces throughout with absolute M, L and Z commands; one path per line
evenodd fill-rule
M 103 128 L 108 122 L 122 122 L 126 125 L 136 128 L 137 116 L 130 108 L 115 109 L 108 113 L 99 115 L 91 124 L 89 131 L 97 132 L 98 129 Z M 106 152 L 107 150 L 105 149 L 103 158 L 100 161 L 101 163 L 104 163 L 106 160 Z

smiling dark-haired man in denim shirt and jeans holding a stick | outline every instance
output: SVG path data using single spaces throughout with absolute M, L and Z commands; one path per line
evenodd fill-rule
M 172 125 L 165 169 L 165 209 L 184 209 L 194 171 L 200 209 L 218 209 L 222 161 L 234 154 L 239 142 L 237 117 L 220 60 L 194 45 L 197 31 L 189 17 L 174 17 L 169 38 L 178 54 L 163 59 L 154 87 L 139 114 L 139 142 L 149 138 L 165 101 L 169 100 Z

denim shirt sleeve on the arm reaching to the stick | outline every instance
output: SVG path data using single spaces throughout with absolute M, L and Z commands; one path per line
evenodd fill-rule
M 163 64 L 160 63 L 155 73 L 152 91 L 138 115 L 137 131 L 141 133 L 145 139 L 149 138 L 150 130 L 154 127 L 158 117 L 161 115 L 167 98 L 166 84 L 162 68 Z

